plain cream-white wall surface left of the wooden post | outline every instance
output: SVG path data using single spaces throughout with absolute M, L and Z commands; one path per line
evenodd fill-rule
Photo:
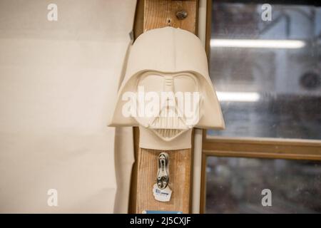
M 58 21 L 47 20 L 51 3 Z M 135 6 L 0 1 L 0 212 L 113 212 L 115 129 L 106 123 Z M 58 207 L 48 206 L 49 189 Z

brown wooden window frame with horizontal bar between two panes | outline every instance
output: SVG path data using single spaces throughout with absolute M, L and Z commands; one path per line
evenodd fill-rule
M 207 1 L 205 48 L 210 65 L 210 28 L 212 0 Z M 228 138 L 207 136 L 203 130 L 202 167 L 200 186 L 200 213 L 205 212 L 206 162 L 209 156 L 248 157 L 287 160 L 320 160 L 321 140 L 285 138 Z

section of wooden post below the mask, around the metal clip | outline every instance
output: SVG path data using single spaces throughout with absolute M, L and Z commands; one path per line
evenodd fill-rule
M 153 197 L 153 185 L 158 171 L 161 150 L 140 148 L 138 152 L 138 180 L 136 212 L 165 210 L 189 212 L 190 203 L 190 150 L 166 151 L 169 155 L 169 187 L 173 191 L 170 202 L 158 202 Z

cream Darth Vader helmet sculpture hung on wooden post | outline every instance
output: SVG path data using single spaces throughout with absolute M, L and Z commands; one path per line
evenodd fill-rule
M 199 38 L 157 28 L 131 47 L 110 126 L 139 126 L 140 147 L 191 147 L 193 128 L 225 128 Z

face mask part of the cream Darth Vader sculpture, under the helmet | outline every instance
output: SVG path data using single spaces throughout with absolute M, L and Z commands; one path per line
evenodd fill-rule
M 193 74 L 148 72 L 138 79 L 137 88 L 134 118 L 162 140 L 173 140 L 198 123 L 201 95 Z

